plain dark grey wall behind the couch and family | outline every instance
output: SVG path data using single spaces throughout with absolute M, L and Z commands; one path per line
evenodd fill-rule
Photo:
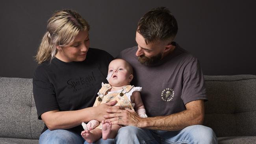
M 9 0 L 0 4 L 0 77 L 32 78 L 33 56 L 55 10 L 78 11 L 91 25 L 91 47 L 115 57 L 135 45 L 139 18 L 158 6 L 171 9 L 175 41 L 199 59 L 205 75 L 256 74 L 254 0 Z

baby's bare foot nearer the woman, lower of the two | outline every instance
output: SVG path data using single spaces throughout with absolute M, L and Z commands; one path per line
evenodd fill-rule
M 88 143 L 93 143 L 102 137 L 102 132 L 101 129 L 96 128 L 91 131 L 84 130 L 81 135 Z

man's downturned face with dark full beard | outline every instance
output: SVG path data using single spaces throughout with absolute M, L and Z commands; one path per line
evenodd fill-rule
M 138 50 L 136 56 L 143 65 L 151 65 L 162 59 L 165 42 L 154 41 L 146 44 L 144 37 L 136 31 Z

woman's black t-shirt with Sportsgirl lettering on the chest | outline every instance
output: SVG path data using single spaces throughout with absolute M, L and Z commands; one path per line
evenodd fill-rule
M 56 57 L 41 63 L 33 76 L 33 95 L 38 118 L 47 111 L 74 111 L 92 107 L 101 88 L 107 83 L 108 65 L 113 57 L 107 52 L 89 48 L 82 62 L 65 63 Z M 46 126 L 43 132 L 48 129 Z M 81 133 L 82 126 L 71 130 Z M 42 132 L 42 133 L 43 133 Z

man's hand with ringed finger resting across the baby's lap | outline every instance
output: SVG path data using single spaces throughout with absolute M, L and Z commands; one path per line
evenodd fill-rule
M 107 109 L 107 112 L 110 114 L 104 115 L 104 118 L 109 119 L 111 124 L 119 124 L 123 126 L 136 126 L 141 127 L 141 122 L 143 118 L 130 109 L 124 109 L 119 106 L 113 106 Z

